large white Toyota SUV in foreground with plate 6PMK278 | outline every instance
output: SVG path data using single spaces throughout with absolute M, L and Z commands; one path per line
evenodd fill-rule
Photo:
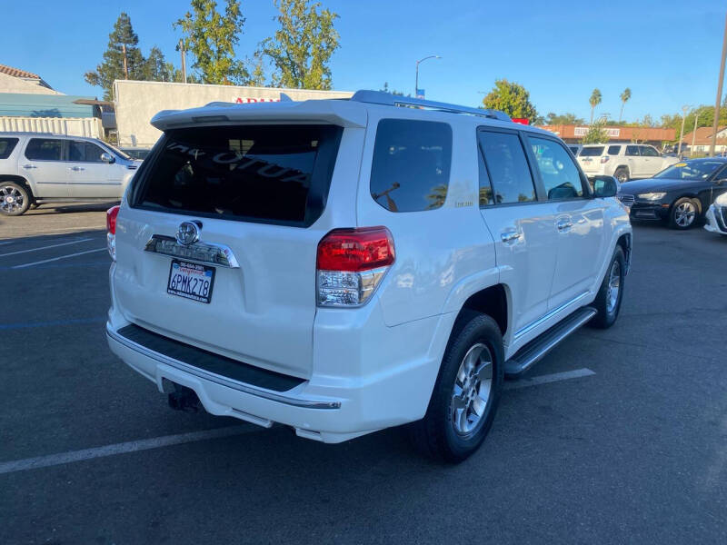
M 400 424 L 461 461 L 503 376 L 622 302 L 632 228 L 563 142 L 360 91 L 208 104 L 108 213 L 109 346 L 177 409 L 340 442 Z

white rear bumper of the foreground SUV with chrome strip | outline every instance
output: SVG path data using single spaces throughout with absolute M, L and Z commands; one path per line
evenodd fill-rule
M 194 390 L 204 409 L 212 414 L 266 428 L 282 423 L 301 437 L 328 443 L 422 418 L 438 367 L 434 360 L 420 357 L 400 362 L 387 372 L 371 372 L 356 379 L 314 374 L 288 391 L 273 391 L 154 352 L 120 334 L 128 322 L 118 318 L 110 312 L 106 323 L 109 348 L 134 371 L 153 381 L 159 391 L 169 392 L 172 385 L 167 381 L 171 381 Z M 440 317 L 435 317 L 431 325 L 439 321 Z M 348 362 L 338 358 L 337 363 L 343 370 Z

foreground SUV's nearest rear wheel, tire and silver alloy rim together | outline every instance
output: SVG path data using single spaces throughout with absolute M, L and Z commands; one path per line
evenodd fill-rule
M 492 427 L 503 375 L 497 323 L 464 312 L 454 325 L 426 414 L 410 425 L 414 446 L 435 460 L 458 463 L 469 457 Z

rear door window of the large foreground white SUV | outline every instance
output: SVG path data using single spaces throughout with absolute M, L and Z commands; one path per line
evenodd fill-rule
M 494 203 L 534 201 L 533 176 L 518 135 L 480 131 L 479 138 L 487 172 L 493 183 Z

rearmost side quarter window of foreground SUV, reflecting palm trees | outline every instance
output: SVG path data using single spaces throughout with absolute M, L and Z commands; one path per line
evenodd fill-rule
M 443 205 L 452 163 L 452 127 L 432 121 L 382 119 L 376 128 L 371 196 L 391 212 Z

